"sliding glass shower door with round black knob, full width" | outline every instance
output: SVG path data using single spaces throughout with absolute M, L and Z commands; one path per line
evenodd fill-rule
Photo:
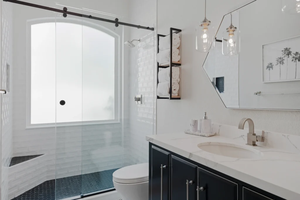
M 72 199 L 112 190 L 112 174 L 123 166 L 124 30 L 71 15 L 56 17 L 55 28 L 55 193 L 56 199 Z

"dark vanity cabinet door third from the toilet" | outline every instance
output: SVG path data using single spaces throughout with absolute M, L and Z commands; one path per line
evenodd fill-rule
M 237 200 L 238 184 L 199 168 L 199 200 Z

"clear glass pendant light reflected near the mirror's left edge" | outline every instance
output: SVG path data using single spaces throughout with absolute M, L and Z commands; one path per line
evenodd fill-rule
M 240 51 L 240 35 L 239 30 L 232 25 L 232 14 L 230 13 L 231 24 L 226 31 L 223 32 L 222 53 L 223 55 L 238 55 Z

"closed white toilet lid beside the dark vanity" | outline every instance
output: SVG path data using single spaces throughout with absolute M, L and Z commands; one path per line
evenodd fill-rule
M 123 167 L 113 172 L 113 181 L 132 184 L 149 181 L 149 163 Z

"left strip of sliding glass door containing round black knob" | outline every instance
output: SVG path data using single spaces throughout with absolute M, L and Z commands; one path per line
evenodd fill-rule
M 66 6 L 66 4 L 68 6 Z M 75 4 L 59 9 L 81 13 Z M 56 200 L 82 194 L 82 18 L 56 17 Z

